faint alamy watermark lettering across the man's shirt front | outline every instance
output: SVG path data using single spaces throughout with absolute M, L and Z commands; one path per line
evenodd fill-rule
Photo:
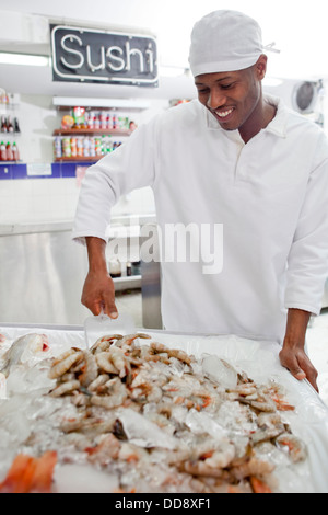
M 109 232 L 107 252 L 131 261 L 130 238 L 139 238 L 143 262 L 200 263 L 203 274 L 223 268 L 223 224 L 115 225 Z

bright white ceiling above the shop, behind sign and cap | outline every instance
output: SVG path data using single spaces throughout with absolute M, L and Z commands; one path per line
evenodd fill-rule
M 263 43 L 276 42 L 280 54 L 268 54 L 268 75 L 288 79 L 328 77 L 328 31 L 325 4 L 327 0 L 0 0 L 0 11 L 38 14 L 46 22 L 71 23 L 91 27 L 125 30 L 154 34 L 157 38 L 160 66 L 188 67 L 189 37 L 194 23 L 215 9 L 236 9 L 256 18 L 262 27 Z M 325 10 L 325 11 L 324 11 Z M 1 31 L 2 32 L 2 31 Z M 0 50 L 49 54 L 49 45 L 15 44 L 1 37 Z M 50 68 L 0 65 L 0 87 L 11 92 L 99 95 L 190 98 L 195 87 L 190 76 L 160 76 L 159 88 L 117 87 L 104 84 L 68 84 L 52 82 Z M 83 91 L 83 93 L 82 93 Z

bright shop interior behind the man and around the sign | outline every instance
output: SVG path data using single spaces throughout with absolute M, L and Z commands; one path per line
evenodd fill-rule
M 141 125 L 154 114 L 196 98 L 188 66 L 190 31 L 201 15 L 226 7 L 256 18 L 266 44 L 274 43 L 273 48 L 279 50 L 269 53 L 265 91 L 281 96 L 291 108 L 328 130 L 324 1 L 313 0 L 308 11 L 307 4 L 281 0 L 270 9 L 260 0 L 204 0 L 192 5 L 173 0 L 98 0 L 95 8 L 77 0 L 12 0 L 10 4 L 0 0 L 0 116 L 8 126 L 13 124 L 13 131 L 1 128 L 0 140 L 11 148 L 15 144 L 19 149 L 19 154 L 11 153 L 11 159 L 0 161 L 1 322 L 83 324 L 89 314 L 80 304 L 86 255 L 84 249 L 70 241 L 83 175 L 92 162 L 129 137 L 130 122 Z M 54 80 L 50 24 L 154 37 L 156 85 Z M 14 58 L 22 57 L 22 64 L 14 62 Z M 63 118 L 73 117 L 77 123 L 79 115 L 83 116 L 82 123 L 89 128 L 90 113 L 98 124 L 104 113 L 110 122 L 99 125 L 104 134 L 96 133 L 98 141 L 92 142 L 93 150 L 82 148 L 86 153 L 78 153 L 72 139 L 78 138 L 83 147 L 84 140 L 89 138 L 91 145 L 90 138 L 95 135 L 68 133 L 68 138 Z M 114 135 L 113 123 L 121 124 L 115 125 Z M 70 139 L 69 154 L 65 139 Z M 140 228 L 155 220 L 151 190 L 142 188 L 120 198 L 113 217 L 118 230 L 115 237 L 122 234 L 129 262 L 138 263 Z M 59 253 L 56 244 L 61 245 Z M 121 265 L 117 306 L 132 314 L 137 327 L 143 327 L 142 274 L 129 275 L 126 258 L 119 253 L 117 258 Z M 110 259 L 108 255 L 108 266 Z M 66 260 L 75 270 L 69 281 Z M 46 277 L 46 291 L 35 284 L 40 273 Z M 19 300 L 13 291 L 22 291 Z M 320 394 L 328 403 L 326 296 L 325 293 L 323 313 L 312 320 L 307 343 L 319 370 Z M 150 322 L 150 327 L 157 328 L 157 322 Z

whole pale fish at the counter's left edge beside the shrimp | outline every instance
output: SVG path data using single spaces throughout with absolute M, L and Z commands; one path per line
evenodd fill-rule
M 0 369 L 5 377 L 9 376 L 11 367 L 23 363 L 28 357 L 35 357 L 38 353 L 49 350 L 49 342 L 46 334 L 31 333 L 20 336 L 13 342 L 3 356 L 4 364 Z

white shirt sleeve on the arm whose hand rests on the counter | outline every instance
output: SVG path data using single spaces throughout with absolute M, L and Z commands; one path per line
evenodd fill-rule
M 323 134 L 288 260 L 285 307 L 321 309 L 328 277 L 328 144 Z

